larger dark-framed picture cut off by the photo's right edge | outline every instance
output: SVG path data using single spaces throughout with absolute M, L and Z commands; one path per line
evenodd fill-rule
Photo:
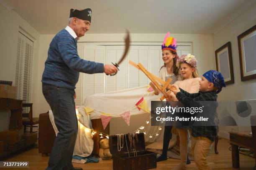
M 256 78 L 256 25 L 238 35 L 241 81 Z

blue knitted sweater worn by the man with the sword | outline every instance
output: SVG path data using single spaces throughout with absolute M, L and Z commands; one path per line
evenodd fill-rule
M 104 72 L 104 65 L 81 59 L 77 53 L 77 40 L 67 30 L 61 30 L 51 40 L 42 82 L 75 89 L 79 72 Z

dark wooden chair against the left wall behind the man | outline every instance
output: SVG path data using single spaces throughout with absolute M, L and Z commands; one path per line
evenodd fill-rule
M 26 128 L 29 127 L 30 130 L 28 132 L 33 133 L 37 132 L 33 131 L 33 127 L 38 128 L 38 126 L 35 126 L 39 123 L 39 117 L 33 117 L 33 110 L 32 110 L 33 103 L 22 103 L 22 107 L 29 107 L 28 113 L 22 113 L 22 124 L 24 126 L 24 133 L 26 133 Z

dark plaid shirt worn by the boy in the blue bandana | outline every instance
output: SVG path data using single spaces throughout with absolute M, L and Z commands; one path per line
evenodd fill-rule
M 195 107 L 200 106 L 200 102 L 197 101 L 217 101 L 217 95 L 215 91 L 208 91 L 208 92 L 201 92 L 198 93 L 188 93 L 181 88 L 179 88 L 181 92 L 178 92 L 176 94 L 177 99 L 182 102 L 182 104 L 186 107 Z M 216 109 L 217 109 L 217 102 L 214 107 L 212 105 L 204 105 L 204 111 L 207 112 L 208 117 L 211 117 L 212 119 L 215 118 Z M 210 119 L 211 119 L 210 118 Z M 192 136 L 193 137 L 206 137 L 209 138 L 211 141 L 215 140 L 215 137 L 217 135 L 217 126 L 193 126 L 192 127 Z

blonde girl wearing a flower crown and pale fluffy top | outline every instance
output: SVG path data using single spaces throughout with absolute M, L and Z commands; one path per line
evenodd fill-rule
M 182 75 L 182 81 L 177 81 L 174 86 L 177 89 L 186 89 L 189 93 L 199 92 L 199 81 L 201 80 L 197 73 L 197 60 L 194 55 L 182 55 L 177 60 L 177 67 L 180 69 Z M 170 97 L 173 101 L 178 101 L 174 93 L 172 92 Z M 179 133 L 179 148 L 180 148 L 180 164 L 176 167 L 176 170 L 186 170 L 187 162 L 187 142 L 188 142 L 188 129 L 187 122 L 175 122 L 175 127 Z

